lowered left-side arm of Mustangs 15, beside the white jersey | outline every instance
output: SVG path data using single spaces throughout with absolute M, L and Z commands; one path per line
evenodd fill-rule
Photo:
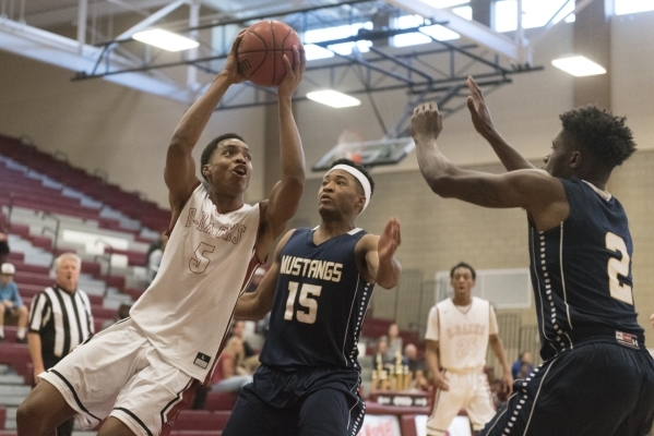
M 263 319 L 265 314 L 271 311 L 282 267 L 282 249 L 284 249 L 284 245 L 286 245 L 294 231 L 295 229 L 289 230 L 277 244 L 273 264 L 261 279 L 254 292 L 246 292 L 238 299 L 234 317 L 239 319 Z

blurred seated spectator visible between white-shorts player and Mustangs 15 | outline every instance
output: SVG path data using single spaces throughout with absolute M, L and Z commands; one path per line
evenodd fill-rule
M 216 363 L 211 390 L 238 392 L 252 382 L 252 374 L 242 366 L 242 355 L 243 341 L 238 336 L 231 336 Z

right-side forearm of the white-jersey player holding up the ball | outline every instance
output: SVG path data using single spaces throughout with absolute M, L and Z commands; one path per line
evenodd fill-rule
M 278 99 L 282 184 L 285 191 L 298 191 L 299 195 L 301 195 L 305 185 L 305 150 L 302 149 L 302 141 L 293 116 L 290 97 L 278 97 Z

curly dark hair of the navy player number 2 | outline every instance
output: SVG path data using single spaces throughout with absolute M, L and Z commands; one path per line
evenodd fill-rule
M 559 116 L 566 132 L 576 145 L 609 168 L 622 165 L 635 152 L 631 129 L 625 117 L 586 106 Z

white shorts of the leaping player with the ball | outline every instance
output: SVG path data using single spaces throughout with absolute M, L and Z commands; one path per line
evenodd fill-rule
M 131 318 L 76 347 L 38 377 L 61 392 L 83 429 L 110 415 L 142 436 L 167 434 L 200 384 L 166 363 Z

